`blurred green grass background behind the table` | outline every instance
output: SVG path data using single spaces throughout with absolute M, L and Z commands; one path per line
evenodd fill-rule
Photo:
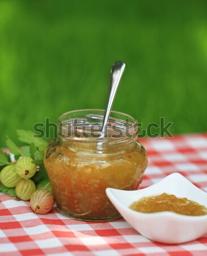
M 113 110 L 170 131 L 206 131 L 207 1 L 0 1 L 0 145 L 45 117 L 105 107 L 109 70 L 126 71 Z

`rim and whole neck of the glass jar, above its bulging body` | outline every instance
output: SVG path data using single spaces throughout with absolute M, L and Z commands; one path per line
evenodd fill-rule
M 120 112 L 111 112 L 107 130 L 102 133 L 104 110 L 85 109 L 67 112 L 58 118 L 58 140 L 64 147 L 83 152 L 126 151 L 133 148 L 138 122 Z

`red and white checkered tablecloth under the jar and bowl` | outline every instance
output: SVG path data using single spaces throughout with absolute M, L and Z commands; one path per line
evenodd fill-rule
M 207 133 L 139 141 L 149 156 L 141 188 L 180 172 L 207 191 Z M 123 218 L 84 222 L 63 216 L 56 208 L 35 214 L 28 201 L 15 201 L 5 194 L 0 201 L 1 256 L 207 255 L 207 234 L 193 242 L 164 245 L 141 236 Z

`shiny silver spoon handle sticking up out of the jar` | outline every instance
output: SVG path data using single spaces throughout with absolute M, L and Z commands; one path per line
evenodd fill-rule
M 121 80 L 122 74 L 124 73 L 125 67 L 126 65 L 122 61 L 116 61 L 112 64 L 107 105 L 105 107 L 105 114 L 103 118 L 102 133 L 105 133 L 105 131 L 107 130 L 109 115 L 111 113 L 113 101 L 115 100 L 116 92 L 119 87 L 119 82 Z

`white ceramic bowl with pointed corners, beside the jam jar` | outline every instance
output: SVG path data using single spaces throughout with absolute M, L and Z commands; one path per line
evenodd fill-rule
M 143 236 L 161 243 L 184 243 L 207 233 L 207 215 L 186 216 L 173 212 L 140 213 L 129 209 L 129 205 L 142 197 L 170 193 L 187 197 L 207 207 L 207 193 L 193 185 L 181 174 L 168 175 L 150 187 L 124 191 L 107 188 L 106 193 L 122 217 Z

